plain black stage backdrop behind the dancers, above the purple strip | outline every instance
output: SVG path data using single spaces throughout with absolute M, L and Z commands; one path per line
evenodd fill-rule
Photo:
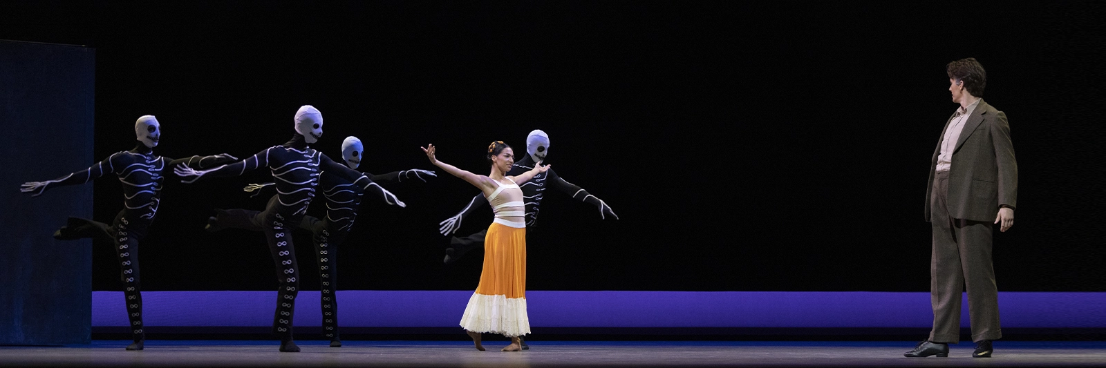
M 1016 225 L 994 236 L 999 290 L 1104 291 L 1103 7 L 35 1 L 6 3 L 0 36 L 97 49 L 97 158 L 134 146 L 144 114 L 163 124 L 163 155 L 244 158 L 291 137 L 311 104 L 326 122 L 314 147 L 336 158 L 356 135 L 374 174 L 431 169 L 429 143 L 482 174 L 489 141 L 521 151 L 544 129 L 549 164 L 622 218 L 544 199 L 528 287 L 582 291 L 928 291 L 927 170 L 956 109 L 945 65 L 972 56 L 1019 161 Z M 215 208 L 261 208 L 241 188 L 265 180 L 167 183 L 144 288 L 272 290 L 261 234 L 202 231 Z M 119 185 L 95 189 L 109 220 Z M 407 208 L 367 201 L 340 287 L 473 288 L 482 253 L 444 265 L 437 229 L 476 190 L 453 177 L 392 189 Z M 94 290 L 118 290 L 116 274 L 95 244 Z

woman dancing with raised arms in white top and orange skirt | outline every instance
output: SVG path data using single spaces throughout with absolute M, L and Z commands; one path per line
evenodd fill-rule
M 483 271 L 480 284 L 469 298 L 461 316 L 461 327 L 472 337 L 478 350 L 482 333 L 495 333 L 511 338 L 503 351 L 522 350 L 519 337 L 530 333 L 526 315 L 526 223 L 525 204 L 519 185 L 549 170 L 536 162 L 530 171 L 505 176 L 514 164 L 514 151 L 502 140 L 488 146 L 491 174 L 476 175 L 435 158 L 434 145 L 422 148 L 430 164 L 480 188 L 495 212 L 484 240 Z

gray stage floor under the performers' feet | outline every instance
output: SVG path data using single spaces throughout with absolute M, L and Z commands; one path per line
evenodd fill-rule
M 462 341 L 298 341 L 303 351 L 276 351 L 275 341 L 97 340 L 65 347 L 0 347 L 0 366 L 237 366 L 237 367 L 1040 367 L 1106 366 L 1106 341 L 998 341 L 995 357 L 971 358 L 972 345 L 951 346 L 948 358 L 905 358 L 912 341 L 533 341 L 531 350 L 488 351 Z M 495 348 L 495 350 L 492 350 Z

